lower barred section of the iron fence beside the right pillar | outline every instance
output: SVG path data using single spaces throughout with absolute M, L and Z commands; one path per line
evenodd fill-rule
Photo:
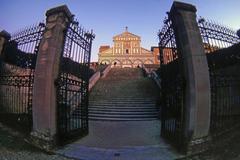
M 211 91 L 211 133 L 219 135 L 239 127 L 240 76 L 211 75 Z

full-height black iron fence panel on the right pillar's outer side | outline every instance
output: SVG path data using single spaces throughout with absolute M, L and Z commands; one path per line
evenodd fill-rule
M 230 67 L 240 67 L 239 51 L 232 53 L 224 48 L 240 43 L 232 29 L 198 19 L 198 25 L 207 54 L 211 84 L 210 133 L 217 136 L 239 126 L 240 120 L 240 76 Z

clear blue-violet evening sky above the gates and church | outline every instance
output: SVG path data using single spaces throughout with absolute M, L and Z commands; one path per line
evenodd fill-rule
M 197 15 L 240 29 L 240 0 L 179 0 L 196 6 Z M 14 33 L 45 20 L 48 9 L 66 4 L 79 23 L 93 29 L 92 61 L 97 61 L 100 45 L 113 45 L 112 37 L 128 26 L 141 36 L 142 47 L 158 44 L 157 33 L 163 26 L 173 0 L 0 0 L 0 30 Z

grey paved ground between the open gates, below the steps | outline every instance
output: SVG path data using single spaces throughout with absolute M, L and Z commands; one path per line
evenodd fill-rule
M 90 121 L 89 135 L 58 154 L 83 160 L 173 160 L 179 155 L 160 137 L 160 121 Z

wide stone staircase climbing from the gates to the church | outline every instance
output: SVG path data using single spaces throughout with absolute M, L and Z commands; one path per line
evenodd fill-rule
M 144 121 L 159 117 L 159 90 L 139 68 L 113 68 L 90 92 L 89 119 Z

